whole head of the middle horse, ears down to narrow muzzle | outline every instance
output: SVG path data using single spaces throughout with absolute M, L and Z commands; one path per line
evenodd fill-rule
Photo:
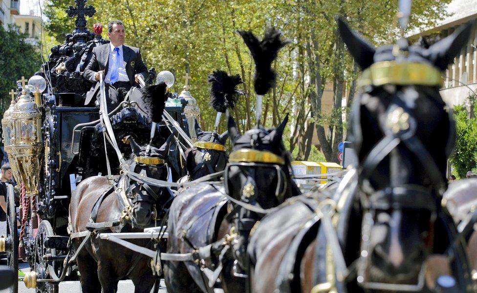
M 299 192 L 291 179 L 290 159 L 282 142 L 287 122 L 288 115 L 277 128 L 259 126 L 240 135 L 234 119 L 228 118 L 233 150 L 225 167 L 224 186 L 233 199 L 231 206 L 237 210 L 233 223 L 237 235 L 232 248 L 236 272 L 248 267 L 248 238 L 264 215 L 263 209 L 277 207 Z

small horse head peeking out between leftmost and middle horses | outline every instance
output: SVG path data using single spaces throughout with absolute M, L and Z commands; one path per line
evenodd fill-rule
M 186 151 L 186 166 L 191 180 L 222 171 L 227 165 L 225 142 L 228 132 L 219 135 L 217 131 L 203 131 L 195 120 L 195 133 L 197 142 Z

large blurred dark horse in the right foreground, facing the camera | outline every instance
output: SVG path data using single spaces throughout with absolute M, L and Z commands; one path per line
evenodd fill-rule
M 429 48 L 399 40 L 377 49 L 344 21 L 338 27 L 364 70 L 348 134 L 359 167 L 335 194 L 287 202 L 261 221 L 251 291 L 428 292 L 446 275 L 452 292 L 466 292 L 465 246 L 441 206 L 455 126 L 439 86 L 471 26 Z

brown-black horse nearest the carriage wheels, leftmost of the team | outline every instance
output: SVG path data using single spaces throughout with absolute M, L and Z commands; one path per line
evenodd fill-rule
M 160 148 L 140 147 L 130 139 L 133 153 L 126 165 L 135 173 L 167 180 L 168 170 L 164 158 L 171 138 L 172 135 Z M 163 216 L 162 211 L 171 202 L 171 194 L 165 188 L 147 186 L 127 174 L 115 176 L 113 180 L 118 182 L 120 189 L 117 191 L 113 190 L 110 179 L 104 176 L 89 177 L 78 185 L 72 193 L 69 206 L 71 232 L 87 231 L 91 218 L 98 223 L 115 223 L 113 227 L 100 232 L 142 232 L 155 219 Z M 121 189 L 126 191 L 132 204 L 127 217 L 124 199 L 119 194 Z M 100 240 L 97 233 L 89 237 L 90 240 L 77 258 L 83 292 L 114 293 L 118 281 L 124 278 L 132 280 L 135 292 L 151 291 L 155 278 L 148 267 L 148 257 L 116 243 Z M 83 239 L 73 239 L 75 250 L 78 250 Z M 133 243 L 152 248 L 150 240 L 136 240 Z

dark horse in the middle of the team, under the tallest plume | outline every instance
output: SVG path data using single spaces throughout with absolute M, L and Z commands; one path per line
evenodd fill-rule
M 250 230 L 267 209 L 300 192 L 291 179 L 290 159 L 282 144 L 287 120 L 276 129 L 259 127 L 241 136 L 229 117 L 233 152 L 224 184 L 203 183 L 184 190 L 169 213 L 167 251 L 187 253 L 214 244 L 211 257 L 203 260 L 206 267 L 165 262 L 170 291 L 212 292 L 220 274 L 225 292 L 244 292 Z

